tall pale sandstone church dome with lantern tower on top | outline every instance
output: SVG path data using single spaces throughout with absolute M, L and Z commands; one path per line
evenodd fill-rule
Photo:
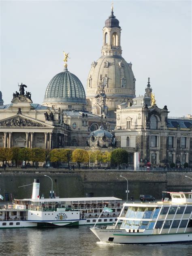
M 135 97 L 135 77 L 132 72 L 132 64 L 128 63 L 122 57 L 121 47 L 121 27 L 118 19 L 113 14 L 105 21 L 103 28 L 103 45 L 101 57 L 92 62 L 91 70 L 87 79 L 87 101 L 92 113 L 102 115 L 105 110 L 102 107 L 102 98 L 98 96 L 100 79 L 106 94 L 106 106 L 109 123 L 115 121 L 114 111 L 118 109 L 117 105 L 126 101 L 132 102 Z M 113 125 L 111 126 L 113 127 Z

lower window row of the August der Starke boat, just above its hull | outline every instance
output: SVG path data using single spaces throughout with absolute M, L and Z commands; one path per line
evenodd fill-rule
M 172 223 L 173 222 L 173 223 Z M 140 221 L 140 220 L 124 220 L 122 223 L 122 228 L 130 228 L 130 229 L 154 229 L 155 221 Z M 164 225 L 163 225 L 164 224 Z M 171 226 L 172 224 L 172 226 Z M 186 228 L 188 224 L 188 220 L 160 220 L 157 221 L 155 228 Z M 191 226 L 191 222 L 189 222 L 188 227 Z

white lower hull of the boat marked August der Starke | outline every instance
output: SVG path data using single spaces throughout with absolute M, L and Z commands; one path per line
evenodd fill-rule
M 105 243 L 124 244 L 158 244 L 158 243 L 186 243 L 192 242 L 192 233 L 144 235 L 138 233 L 127 233 L 123 229 L 98 229 L 91 228 L 92 232 Z

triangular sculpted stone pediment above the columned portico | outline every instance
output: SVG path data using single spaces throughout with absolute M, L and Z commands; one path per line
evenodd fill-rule
M 45 127 L 54 128 L 54 126 L 45 124 L 36 119 L 23 116 L 21 114 L 8 117 L 0 121 L 0 127 Z

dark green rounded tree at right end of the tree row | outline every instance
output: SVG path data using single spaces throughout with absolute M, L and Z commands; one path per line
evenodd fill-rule
M 125 149 L 114 149 L 111 152 L 111 163 L 117 165 L 119 170 L 119 164 L 128 163 L 128 152 Z

